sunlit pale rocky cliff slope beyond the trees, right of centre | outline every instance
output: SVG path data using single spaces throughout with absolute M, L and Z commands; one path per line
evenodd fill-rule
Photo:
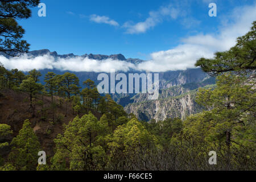
M 213 82 L 212 78 L 210 80 Z M 204 109 L 196 103 L 195 98 L 200 87 L 214 88 L 214 85 L 207 84 L 208 81 L 164 89 L 158 100 L 150 101 L 147 99 L 147 94 L 137 94 L 131 98 L 133 103 L 127 105 L 125 110 L 127 113 L 135 114 L 142 121 L 150 121 L 151 119 L 162 121 L 176 117 L 185 119 L 188 115 L 199 113 Z M 189 85 L 192 88 L 197 86 L 197 88 L 189 89 Z

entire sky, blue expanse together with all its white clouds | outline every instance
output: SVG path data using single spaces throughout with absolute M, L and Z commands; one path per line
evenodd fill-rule
M 85 53 L 147 60 L 128 64 L 75 57 L 55 60 L 49 55 L 26 55 L 1 62 L 7 69 L 60 69 L 109 72 L 110 69 L 165 72 L 195 68 L 201 57 L 236 45 L 238 36 L 256 20 L 256 0 L 168 1 L 60 1 L 42 0 L 46 17 L 20 20 L 30 49 L 49 49 L 59 54 Z M 209 3 L 216 3 L 217 16 L 210 17 Z

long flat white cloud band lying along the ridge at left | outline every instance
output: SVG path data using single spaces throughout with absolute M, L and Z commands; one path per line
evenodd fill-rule
M 31 69 L 59 69 L 61 71 L 74 72 L 110 72 L 110 69 L 127 72 L 129 69 L 136 69 L 132 63 L 113 59 L 94 60 L 87 57 L 69 57 L 67 59 L 55 59 L 51 55 L 29 57 L 23 55 L 7 59 L 0 56 L 1 63 L 6 69 L 17 68 L 21 71 L 30 71 Z

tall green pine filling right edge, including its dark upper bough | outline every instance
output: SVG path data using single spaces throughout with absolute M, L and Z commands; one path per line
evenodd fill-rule
M 217 76 L 217 85 L 199 90 L 197 103 L 207 111 L 187 118 L 184 130 L 201 146 L 195 153 L 210 146 L 225 155 L 221 160 L 225 169 L 237 168 L 237 163 L 245 168 L 255 164 L 255 37 L 256 22 L 229 51 L 196 63 L 209 75 Z

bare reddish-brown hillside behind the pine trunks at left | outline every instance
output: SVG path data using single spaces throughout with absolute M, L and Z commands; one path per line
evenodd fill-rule
M 11 89 L 0 90 L 0 124 L 5 123 L 11 126 L 15 137 L 19 130 L 22 129 L 23 122 L 29 119 L 33 130 L 38 136 L 42 149 L 46 151 L 47 155 L 52 156 L 54 154 L 53 148 L 55 144 L 53 139 L 57 134 L 63 133 L 63 124 L 68 124 L 77 113 L 73 113 L 72 102 L 65 102 L 60 105 L 60 97 L 53 96 L 57 105 L 54 110 L 54 121 L 52 118 L 51 110 L 51 97 L 37 95 L 35 99 L 35 115 L 33 117 L 33 111 L 30 109 L 28 102 L 28 94 L 20 91 L 14 91 Z M 67 105 L 66 105 L 67 104 Z M 66 110 L 66 107 L 68 108 Z M 100 119 L 101 114 L 92 113 Z M 9 138 L 11 140 L 12 138 Z M 1 139 L 0 139 L 1 140 Z M 9 154 L 10 148 L 1 148 L 0 152 Z

